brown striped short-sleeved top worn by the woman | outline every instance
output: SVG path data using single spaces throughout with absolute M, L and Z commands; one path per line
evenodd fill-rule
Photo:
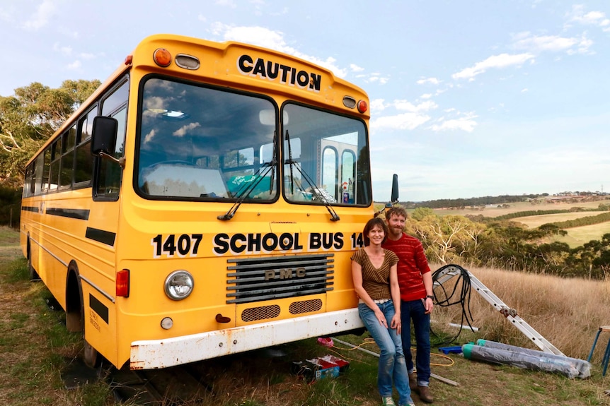
M 384 249 L 384 263 L 379 268 L 372 264 L 367 251 L 359 249 L 352 255 L 352 261 L 362 267 L 362 287 L 371 299 L 392 299 L 390 293 L 390 268 L 398 263 L 398 257 L 392 251 Z

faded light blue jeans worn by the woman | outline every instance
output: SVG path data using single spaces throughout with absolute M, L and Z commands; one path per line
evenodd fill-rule
M 394 316 L 394 304 L 391 300 L 377 304 L 386 316 L 388 326 Z M 396 328 L 385 328 L 379 323 L 372 311 L 366 304 L 358 304 L 358 313 L 362 323 L 367 327 L 375 340 L 381 354 L 379 354 L 379 370 L 377 372 L 377 387 L 382 397 L 392 395 L 392 381 L 398 391 L 398 405 L 407 405 L 411 400 L 405 354 L 401 336 L 396 333 Z

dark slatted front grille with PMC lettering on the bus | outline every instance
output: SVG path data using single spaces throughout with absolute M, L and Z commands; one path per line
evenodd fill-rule
M 229 259 L 226 303 L 320 294 L 333 289 L 333 255 Z M 231 265 L 231 264 L 235 265 Z

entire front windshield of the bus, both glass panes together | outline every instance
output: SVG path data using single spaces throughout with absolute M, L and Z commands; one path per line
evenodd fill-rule
M 149 77 L 142 86 L 137 192 L 167 200 L 277 199 L 277 105 L 267 97 Z M 290 203 L 369 205 L 364 122 L 286 103 L 284 197 Z

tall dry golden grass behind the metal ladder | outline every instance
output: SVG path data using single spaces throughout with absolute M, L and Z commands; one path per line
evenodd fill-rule
M 587 359 L 599 326 L 610 324 L 610 282 L 607 280 L 562 279 L 490 268 L 468 270 L 568 357 Z M 454 282 L 456 277 L 444 285 Z M 470 309 L 472 325 L 480 328 L 480 338 L 539 350 L 474 289 Z M 459 306 L 437 306 L 435 318 L 442 323 L 459 323 L 460 312 Z M 596 349 L 593 362 L 601 361 L 603 347 Z

